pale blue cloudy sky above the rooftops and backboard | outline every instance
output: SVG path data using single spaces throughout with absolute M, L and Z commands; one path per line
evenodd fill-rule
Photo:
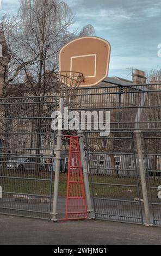
M 149 71 L 161 66 L 160 0 L 65 0 L 75 14 L 73 27 L 87 24 L 112 46 L 109 76 L 131 78 L 129 67 Z M 15 13 L 18 0 L 1 0 L 1 14 Z

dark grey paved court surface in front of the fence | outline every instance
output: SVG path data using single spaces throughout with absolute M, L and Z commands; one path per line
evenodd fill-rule
M 137 224 L 0 215 L 0 227 L 0 245 L 161 245 L 161 228 Z

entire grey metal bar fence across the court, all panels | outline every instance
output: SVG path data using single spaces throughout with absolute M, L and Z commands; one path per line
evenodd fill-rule
M 58 101 L 57 96 L 0 99 L 1 213 L 50 218 L 54 186 L 51 170 L 54 170 L 57 138 L 51 129 L 51 114 L 57 109 Z M 134 130 L 141 130 L 150 209 L 154 224 L 160 225 L 160 84 L 117 86 L 104 83 L 100 87 L 78 89 L 70 101 L 67 101 L 69 111 L 79 114 L 81 111 L 83 115 L 86 111 L 110 111 L 109 136 L 100 136 L 100 127 L 94 130 L 93 119 L 91 130 L 85 130 L 96 217 L 144 222 L 138 153 L 133 137 Z M 62 141 L 61 147 L 60 172 L 63 173 L 59 202 L 63 208 L 69 145 Z M 58 210 L 60 208 L 58 206 Z

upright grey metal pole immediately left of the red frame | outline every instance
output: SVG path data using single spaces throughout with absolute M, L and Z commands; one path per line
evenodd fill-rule
M 63 115 L 63 99 L 59 99 L 59 111 L 61 113 L 61 117 Z M 60 117 L 58 117 L 60 118 Z M 55 179 L 54 179 L 54 196 L 53 196 L 53 212 L 51 213 L 51 221 L 57 220 L 57 202 L 58 202 L 58 188 L 59 188 L 59 172 L 60 172 L 60 159 L 61 159 L 61 129 L 60 122 L 58 120 L 58 133 L 57 133 L 57 148 L 56 156 L 55 156 Z

